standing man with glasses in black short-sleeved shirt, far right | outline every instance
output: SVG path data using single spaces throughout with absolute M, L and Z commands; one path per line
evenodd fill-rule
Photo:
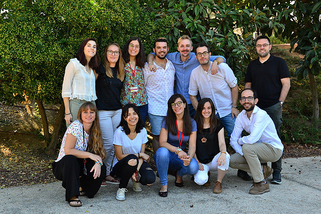
M 271 42 L 267 36 L 256 39 L 256 51 L 259 57 L 247 67 L 245 88 L 257 91 L 257 106 L 267 112 L 274 122 L 278 136 L 282 120 L 282 106 L 290 89 L 290 73 L 282 58 L 270 54 Z M 272 162 L 272 183 L 281 184 L 282 157 Z M 249 175 L 238 171 L 240 177 Z

